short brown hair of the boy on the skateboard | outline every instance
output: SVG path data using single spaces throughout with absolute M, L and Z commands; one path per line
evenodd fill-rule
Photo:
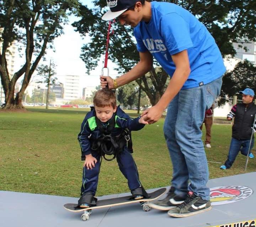
M 112 106 L 116 107 L 116 96 L 112 90 L 103 88 L 98 90 L 94 95 L 94 106 L 105 107 Z

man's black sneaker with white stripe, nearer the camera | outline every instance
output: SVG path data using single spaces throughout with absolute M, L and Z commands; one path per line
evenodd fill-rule
M 210 201 L 203 200 L 201 197 L 194 195 L 193 192 L 189 192 L 184 203 L 175 209 L 169 210 L 168 215 L 172 217 L 188 217 L 210 209 L 212 209 Z

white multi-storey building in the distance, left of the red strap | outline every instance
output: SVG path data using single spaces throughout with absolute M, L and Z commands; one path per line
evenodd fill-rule
M 64 82 L 64 99 L 80 99 L 80 76 L 66 75 Z

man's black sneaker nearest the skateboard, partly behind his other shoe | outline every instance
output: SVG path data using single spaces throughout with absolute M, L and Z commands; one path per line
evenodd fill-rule
M 171 187 L 170 191 L 167 193 L 167 196 L 163 200 L 150 203 L 150 206 L 158 210 L 170 210 L 182 204 L 185 198 L 186 196 L 182 197 L 182 196 L 176 195 L 174 193 L 174 188 Z

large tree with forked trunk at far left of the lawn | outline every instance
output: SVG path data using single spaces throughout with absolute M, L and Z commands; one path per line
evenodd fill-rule
M 39 61 L 63 33 L 68 15 L 78 13 L 78 0 L 0 0 L 0 76 L 5 93 L 5 108 L 22 108 L 22 96 Z M 10 75 L 6 55 L 16 42 L 24 63 Z M 23 76 L 22 87 L 14 96 L 15 83 Z

